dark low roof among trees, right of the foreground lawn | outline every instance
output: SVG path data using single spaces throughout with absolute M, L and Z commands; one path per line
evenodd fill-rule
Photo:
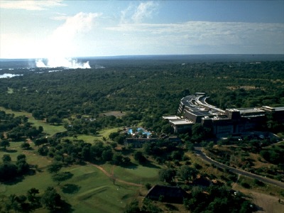
M 182 203 L 188 194 L 180 187 L 154 185 L 146 195 L 151 200 L 159 200 L 160 196 L 163 196 L 163 202 Z

